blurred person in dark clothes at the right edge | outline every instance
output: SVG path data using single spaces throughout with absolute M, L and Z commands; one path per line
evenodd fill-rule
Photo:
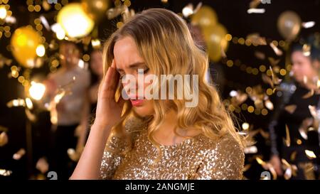
M 292 179 L 317 179 L 319 174 L 319 122 L 312 112 L 320 108 L 319 33 L 309 36 L 307 41 L 292 47 L 292 82 L 283 82 L 277 92 L 279 106 L 270 122 L 271 157 L 278 176 Z M 314 110 L 312 110 L 312 107 Z M 316 112 L 316 114 L 319 114 Z M 310 128 L 310 127 L 313 128 Z M 287 129 L 286 129 L 287 128 Z M 313 158 L 313 154 L 316 158 Z M 290 163 L 296 170 L 284 175 L 284 163 Z M 309 170 L 308 170 L 309 169 Z M 287 179 L 286 178 L 286 179 Z

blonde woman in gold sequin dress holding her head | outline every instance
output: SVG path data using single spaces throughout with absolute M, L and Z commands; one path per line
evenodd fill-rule
M 166 9 L 143 11 L 112 34 L 103 57 L 95 122 L 70 179 L 242 178 L 243 140 L 206 82 L 208 56 L 183 19 Z M 129 75 L 198 75 L 198 104 L 186 106 L 190 98 L 178 93 L 146 99 L 131 90 L 124 100 L 121 80 Z M 151 84 L 138 82 L 137 90 Z

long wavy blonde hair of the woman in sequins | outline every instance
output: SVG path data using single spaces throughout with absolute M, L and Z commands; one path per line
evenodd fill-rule
M 166 9 L 148 9 L 136 14 L 105 43 L 104 70 L 110 67 L 114 59 L 114 44 L 125 36 L 133 38 L 139 54 L 154 75 L 198 75 L 197 107 L 185 107 L 186 99 L 175 98 L 169 100 L 169 103 L 154 99 L 154 115 L 144 119 L 149 123 L 148 138 L 152 144 L 159 149 L 160 145 L 154 140 L 153 133 L 159 129 L 166 111 L 174 109 L 178 118 L 176 129 L 193 127 L 211 139 L 230 134 L 243 148 L 244 141 L 238 135 L 233 119 L 221 102 L 215 86 L 206 81 L 208 55 L 193 41 L 182 18 Z M 121 90 L 119 86 L 118 97 Z M 123 126 L 131 112 L 132 106 L 127 102 L 121 122 L 113 128 L 114 133 L 126 134 Z

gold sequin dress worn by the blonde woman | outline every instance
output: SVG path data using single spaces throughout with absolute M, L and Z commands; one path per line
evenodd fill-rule
M 139 126 L 138 126 L 139 127 Z M 142 126 L 141 126 L 142 127 Z M 126 124 L 126 129 L 137 125 Z M 126 144 L 110 136 L 102 158 L 102 179 L 242 179 L 244 153 L 232 136 L 213 141 L 200 134 L 159 152 L 142 127 L 134 132 L 133 148 L 122 154 Z

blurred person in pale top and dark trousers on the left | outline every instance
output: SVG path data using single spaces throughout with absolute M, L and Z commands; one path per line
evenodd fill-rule
M 90 72 L 78 65 L 81 53 L 75 43 L 61 42 L 59 54 L 61 67 L 48 75 L 45 84 L 46 95 L 50 100 L 55 98 L 59 89 L 65 90 L 63 98 L 51 110 L 51 117 L 55 117 L 56 113 L 53 145 L 55 154 L 52 162 L 58 179 L 68 179 L 75 168 L 75 159 L 70 159 L 68 149 L 75 149 L 80 155 L 85 144 Z

